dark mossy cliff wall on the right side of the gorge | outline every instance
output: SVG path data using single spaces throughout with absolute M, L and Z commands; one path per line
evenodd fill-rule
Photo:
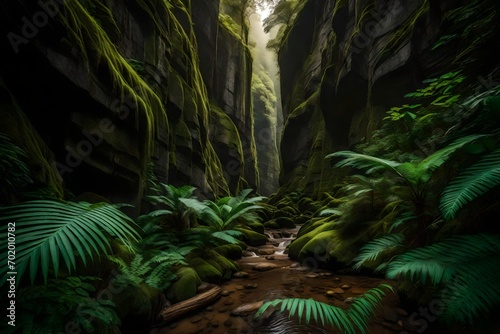
M 283 190 L 332 189 L 325 156 L 369 138 L 387 110 L 450 61 L 431 49 L 444 13 L 458 5 L 307 1 L 279 52 Z

